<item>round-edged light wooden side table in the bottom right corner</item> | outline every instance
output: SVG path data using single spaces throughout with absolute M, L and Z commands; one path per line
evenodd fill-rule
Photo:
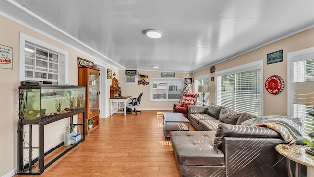
M 288 149 L 284 149 L 283 145 L 288 145 Z M 307 167 L 314 168 L 314 156 L 305 152 L 306 149 L 310 147 L 302 145 L 289 145 L 289 144 L 278 144 L 276 150 L 278 153 L 287 158 L 287 167 L 289 177 L 293 177 L 291 170 L 290 161 L 296 162 L 295 164 L 295 177 L 300 177 L 300 167 L 301 164 Z M 312 175 L 312 174 L 311 174 Z M 307 174 L 308 177 L 311 177 L 310 174 Z

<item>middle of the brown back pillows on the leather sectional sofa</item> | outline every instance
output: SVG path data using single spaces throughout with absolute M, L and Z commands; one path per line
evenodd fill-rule
M 219 114 L 219 120 L 223 123 L 236 125 L 237 120 L 240 118 L 242 113 L 234 111 L 230 108 L 222 108 Z

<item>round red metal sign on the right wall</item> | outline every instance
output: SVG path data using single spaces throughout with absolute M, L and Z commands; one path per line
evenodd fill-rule
M 284 80 L 278 76 L 278 75 L 272 75 L 269 78 L 267 78 L 265 83 L 265 88 L 268 91 L 268 93 L 271 94 L 279 94 L 284 90 Z

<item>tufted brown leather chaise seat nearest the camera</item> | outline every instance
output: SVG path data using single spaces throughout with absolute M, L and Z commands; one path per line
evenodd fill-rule
M 224 154 L 214 147 L 216 131 L 171 131 L 171 142 L 179 165 L 221 166 Z

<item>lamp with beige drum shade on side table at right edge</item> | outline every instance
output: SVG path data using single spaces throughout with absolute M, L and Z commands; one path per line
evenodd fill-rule
M 292 103 L 314 105 L 313 86 L 314 81 L 292 83 Z M 312 116 L 314 120 L 314 111 L 309 111 L 309 115 Z M 312 125 L 314 126 L 314 123 L 312 123 Z M 314 137 L 314 128 L 312 130 L 313 132 L 308 134 L 308 136 L 311 138 Z M 306 152 L 308 154 L 314 155 L 314 148 L 306 149 Z

